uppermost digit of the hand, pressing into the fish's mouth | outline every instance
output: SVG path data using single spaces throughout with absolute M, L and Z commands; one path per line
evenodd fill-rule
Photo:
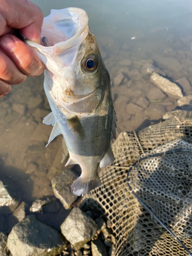
M 28 0 L 1 0 L 0 36 L 11 28 L 19 29 L 20 34 L 39 44 L 43 19 L 40 8 Z

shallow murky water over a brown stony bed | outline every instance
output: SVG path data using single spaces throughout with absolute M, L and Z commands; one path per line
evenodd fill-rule
M 50 9 L 66 7 L 87 11 L 89 26 L 112 80 L 117 134 L 150 125 L 177 107 L 178 97 L 163 95 L 150 81 L 151 74 L 146 69 L 151 63 L 164 76 L 180 83 L 184 95 L 191 94 L 190 1 L 32 2 L 39 5 L 45 16 Z M 186 79 L 178 81 L 181 78 Z M 51 179 L 65 163 L 61 163 L 65 159 L 62 136 L 45 147 L 52 127 L 42 124 L 42 119 L 50 113 L 43 80 L 43 75 L 28 78 L 23 84 L 13 86 L 7 97 L 0 98 L 0 179 L 14 188 L 18 202 L 29 205 L 36 198 L 53 197 Z M 0 231 L 9 232 L 17 222 L 12 215 L 17 205 L 0 208 Z M 59 228 L 68 212 L 54 202 L 37 215 Z

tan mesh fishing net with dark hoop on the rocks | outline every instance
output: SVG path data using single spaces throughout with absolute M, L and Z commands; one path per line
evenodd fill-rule
M 166 120 L 133 133 L 121 133 L 112 145 L 114 166 L 101 169 L 102 186 L 83 197 L 80 207 L 95 218 L 112 222 L 116 255 L 188 255 L 131 193 L 129 167 L 141 157 L 187 149 L 192 151 L 192 113 L 174 111 Z M 127 168 L 121 168 L 127 167 Z M 148 158 L 132 167 L 129 184 L 134 193 L 192 251 L 192 154 Z

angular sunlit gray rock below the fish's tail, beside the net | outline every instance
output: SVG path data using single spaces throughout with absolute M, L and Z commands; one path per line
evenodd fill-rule
M 60 226 L 63 236 L 76 250 L 87 244 L 97 232 L 97 224 L 79 208 L 73 208 Z

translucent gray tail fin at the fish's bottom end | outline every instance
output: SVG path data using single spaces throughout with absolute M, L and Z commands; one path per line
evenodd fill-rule
M 73 194 L 77 196 L 86 195 L 90 190 L 95 187 L 101 186 L 102 183 L 97 175 L 94 179 L 82 179 L 81 176 L 76 179 L 73 184 L 71 185 L 73 189 Z

